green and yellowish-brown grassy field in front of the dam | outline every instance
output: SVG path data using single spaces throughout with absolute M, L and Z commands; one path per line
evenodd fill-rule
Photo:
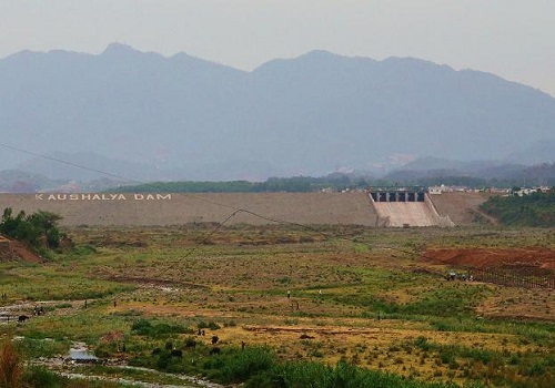
M 251 386 L 287 386 L 275 376 L 291 380 L 300 370 L 408 379 L 400 386 L 551 387 L 555 379 L 553 290 L 447 282 L 456 262 L 427 254 L 541 247 L 555 255 L 553 229 L 200 224 L 65 232 L 70 253 L 43 264 L 0 263 L 3 310 L 46 309 L 0 325 L 2 335 L 21 337 L 28 359 L 82 341 L 131 366 Z M 210 355 L 214 347 L 220 355 Z M 274 375 L 263 374 L 269 365 Z M 81 372 L 138 378 L 114 367 Z

